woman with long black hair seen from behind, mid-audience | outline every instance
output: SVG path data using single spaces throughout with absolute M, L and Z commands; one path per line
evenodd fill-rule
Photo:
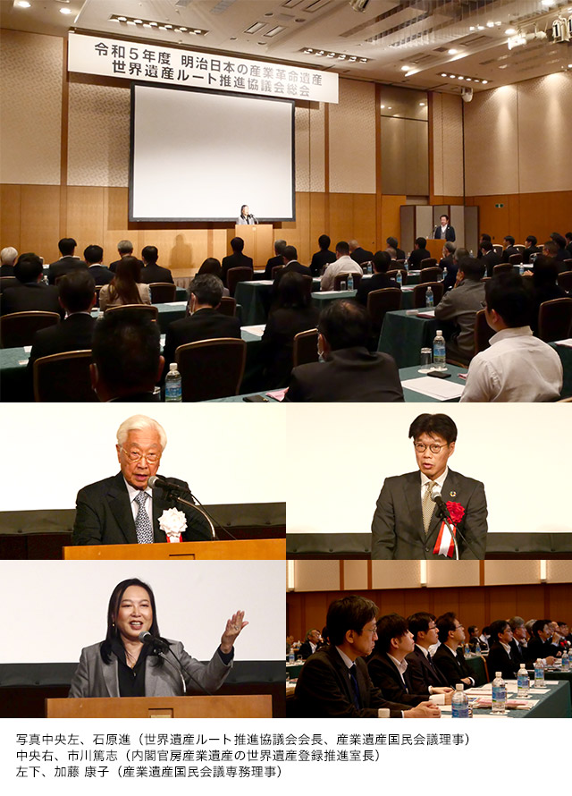
M 266 389 L 285 387 L 290 380 L 294 335 L 315 329 L 319 312 L 310 303 L 305 277 L 288 271 L 276 288 L 276 298 L 262 335 Z

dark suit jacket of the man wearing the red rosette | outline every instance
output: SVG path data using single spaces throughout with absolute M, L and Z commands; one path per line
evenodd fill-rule
M 461 559 L 483 559 L 486 546 L 486 498 L 484 486 L 449 470 L 442 498 L 459 503 L 465 516 L 458 522 L 458 555 Z M 421 511 L 421 474 L 408 472 L 385 478 L 372 521 L 372 558 L 443 558 L 433 555 L 441 520 L 436 504 L 425 536 Z M 461 535 L 463 538 L 461 538 Z M 468 545 L 464 539 L 467 539 Z

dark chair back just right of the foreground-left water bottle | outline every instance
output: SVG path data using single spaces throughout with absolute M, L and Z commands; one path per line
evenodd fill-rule
M 175 351 L 183 401 L 209 401 L 238 395 L 247 344 L 234 337 L 185 343 Z

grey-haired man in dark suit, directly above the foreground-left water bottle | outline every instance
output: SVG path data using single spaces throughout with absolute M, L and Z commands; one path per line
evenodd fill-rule
M 175 351 L 180 345 L 219 337 L 236 337 L 240 340 L 239 318 L 230 318 L 218 311 L 222 298 L 223 283 L 218 276 L 195 276 L 189 284 L 189 317 L 173 321 L 167 327 L 164 343 L 167 370 L 175 361 Z

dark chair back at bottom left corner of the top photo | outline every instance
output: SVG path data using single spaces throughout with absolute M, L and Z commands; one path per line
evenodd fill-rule
M 91 389 L 91 351 L 66 351 L 34 362 L 34 401 L 97 402 Z

